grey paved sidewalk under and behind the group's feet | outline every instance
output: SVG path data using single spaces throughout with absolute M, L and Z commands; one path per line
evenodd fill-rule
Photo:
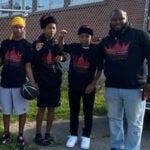
M 81 119 L 79 133 L 81 133 L 82 127 L 83 127 L 83 120 Z M 69 148 L 65 147 L 68 134 L 69 134 L 69 121 L 68 120 L 55 121 L 52 128 L 52 135 L 54 136 L 56 143 L 51 146 L 42 147 L 37 146 L 33 142 L 33 138 L 35 135 L 35 123 L 32 124 L 27 123 L 25 130 L 26 143 L 30 144 L 31 147 L 34 147 L 36 150 L 68 150 Z M 91 150 L 110 149 L 108 120 L 106 117 L 94 117 L 90 149 Z M 149 150 L 149 149 L 150 149 L 150 123 L 146 123 L 144 126 L 141 150 Z M 79 142 L 73 150 L 81 150 Z

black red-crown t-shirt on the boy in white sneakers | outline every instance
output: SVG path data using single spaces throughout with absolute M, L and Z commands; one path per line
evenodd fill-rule
M 96 69 L 101 70 L 103 65 L 97 57 L 97 46 L 82 47 L 81 44 L 72 43 L 64 45 L 64 51 L 70 54 L 69 87 L 85 90 L 92 82 Z

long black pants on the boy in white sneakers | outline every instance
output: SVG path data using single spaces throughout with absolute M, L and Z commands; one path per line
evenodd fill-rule
M 71 135 L 78 135 L 81 97 L 83 100 L 84 113 L 84 128 L 82 136 L 89 137 L 91 134 L 93 124 L 93 106 L 95 99 L 95 90 L 90 94 L 85 94 L 82 91 L 69 89 L 70 133 Z

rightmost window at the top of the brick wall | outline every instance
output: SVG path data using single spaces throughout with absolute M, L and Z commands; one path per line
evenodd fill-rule
M 103 2 L 104 0 L 71 0 L 70 6 L 74 5 L 82 5 L 82 4 L 88 4 L 88 3 L 96 3 L 96 2 Z

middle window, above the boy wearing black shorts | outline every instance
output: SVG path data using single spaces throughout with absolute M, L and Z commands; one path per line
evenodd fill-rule
M 64 6 L 64 0 L 38 0 L 37 10 L 62 8 Z

